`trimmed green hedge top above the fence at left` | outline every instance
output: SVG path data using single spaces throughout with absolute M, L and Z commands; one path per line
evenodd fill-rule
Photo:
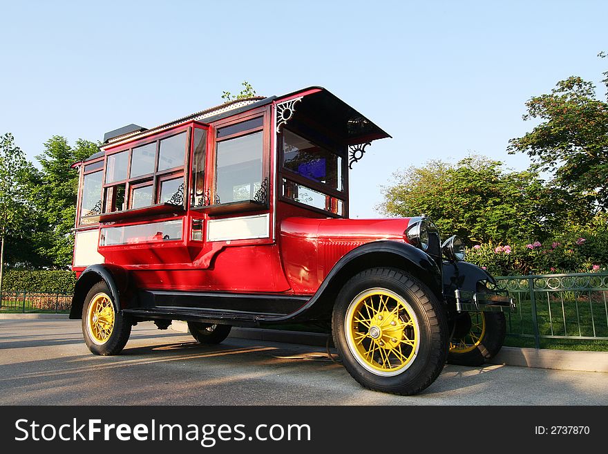
M 76 274 L 66 269 L 18 270 L 6 272 L 4 292 L 41 292 L 73 294 Z

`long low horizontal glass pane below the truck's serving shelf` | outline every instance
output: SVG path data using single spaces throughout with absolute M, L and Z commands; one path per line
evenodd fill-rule
M 147 243 L 182 239 L 182 220 L 160 223 L 105 227 L 99 237 L 100 246 Z

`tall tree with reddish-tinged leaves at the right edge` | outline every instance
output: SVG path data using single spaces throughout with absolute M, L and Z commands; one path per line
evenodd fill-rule
M 605 56 L 600 54 L 600 57 Z M 608 72 L 603 80 L 608 86 Z M 608 209 L 608 103 L 596 97 L 595 86 L 572 76 L 550 94 L 526 102 L 524 120 L 542 123 L 509 141 L 509 153 L 527 153 L 533 171 L 549 171 L 551 183 Z

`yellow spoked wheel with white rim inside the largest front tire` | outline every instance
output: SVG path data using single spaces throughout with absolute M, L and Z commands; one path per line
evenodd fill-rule
M 348 348 L 363 368 L 390 377 L 406 370 L 419 348 L 419 325 L 412 306 L 385 288 L 361 292 L 345 317 Z

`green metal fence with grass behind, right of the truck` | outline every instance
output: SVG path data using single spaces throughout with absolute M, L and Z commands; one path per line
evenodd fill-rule
M 608 273 L 540 274 L 496 278 L 517 309 L 507 332 L 540 339 L 608 340 Z

